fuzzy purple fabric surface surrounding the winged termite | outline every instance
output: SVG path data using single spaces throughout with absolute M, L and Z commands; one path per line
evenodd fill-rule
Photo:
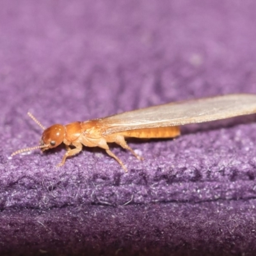
M 255 116 L 55 168 L 45 126 L 256 92 L 248 1 L 1 1 L 1 255 L 255 255 Z

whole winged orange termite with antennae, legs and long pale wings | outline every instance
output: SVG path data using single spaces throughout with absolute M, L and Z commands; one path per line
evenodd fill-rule
M 37 148 L 44 151 L 64 143 L 67 152 L 61 163 L 58 164 L 58 166 L 62 166 L 67 157 L 81 152 L 83 145 L 100 147 L 104 148 L 109 156 L 116 159 L 127 172 L 124 163 L 109 150 L 108 143 L 115 142 L 122 148 L 131 151 L 138 159 L 142 159 L 127 145 L 125 138 L 175 138 L 180 135 L 179 125 L 253 113 L 256 113 L 256 95 L 253 94 L 230 94 L 173 102 L 85 122 L 74 122 L 67 125 L 54 124 L 47 129 L 31 113 L 28 113 L 44 130 L 40 145 L 17 150 L 13 152 L 12 156 Z

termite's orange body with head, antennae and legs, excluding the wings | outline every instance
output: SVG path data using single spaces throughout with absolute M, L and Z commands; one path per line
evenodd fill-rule
M 141 160 L 142 157 L 138 156 L 134 150 L 127 145 L 125 141 L 126 137 L 174 138 L 180 135 L 180 129 L 178 126 L 133 129 L 124 132 L 106 134 L 106 126 L 104 126 L 104 124 L 102 125 L 102 119 L 89 120 L 86 122 L 74 122 L 67 125 L 54 124 L 45 129 L 43 125 L 40 124 L 40 122 L 38 122 L 38 120 L 36 120 L 35 117 L 30 113 L 29 116 L 35 120 L 36 124 L 40 125 L 40 127 L 44 129 L 40 146 L 18 150 L 14 152 L 12 156 L 36 148 L 41 148 L 42 151 L 44 151 L 50 148 L 58 147 L 58 145 L 64 143 L 66 145 L 67 152 L 63 156 L 63 159 L 58 166 L 63 165 L 67 157 L 74 156 L 75 154 L 81 152 L 84 145 L 86 147 L 104 148 L 109 156 L 115 158 L 122 168 L 124 168 L 125 172 L 127 172 L 127 168 L 125 167 L 124 163 L 117 156 L 115 156 L 111 150 L 109 150 L 108 143 L 117 143 L 121 147 L 130 150 L 134 156 Z M 70 148 L 70 146 L 73 148 Z

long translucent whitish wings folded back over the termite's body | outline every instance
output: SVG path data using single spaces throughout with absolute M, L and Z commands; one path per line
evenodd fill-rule
M 209 122 L 256 113 L 256 95 L 230 94 L 173 102 L 99 120 L 104 134 L 134 129 Z

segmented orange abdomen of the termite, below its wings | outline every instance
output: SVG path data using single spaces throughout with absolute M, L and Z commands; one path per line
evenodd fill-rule
M 120 133 L 125 137 L 134 138 L 174 138 L 180 135 L 180 128 L 179 126 L 143 128 Z

